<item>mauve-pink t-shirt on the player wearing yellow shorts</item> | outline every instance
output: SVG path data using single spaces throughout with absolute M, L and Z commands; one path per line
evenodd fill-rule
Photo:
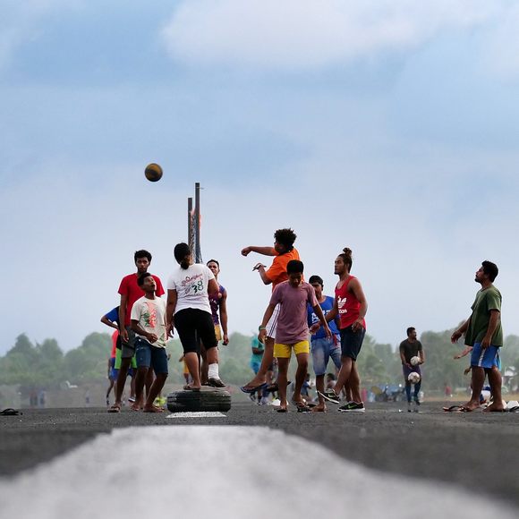
M 309 336 L 306 305 L 319 304 L 312 285 L 302 282 L 294 288 L 288 281 L 277 285 L 270 298 L 270 304 L 280 303 L 277 318 L 276 342 L 280 345 L 294 345 L 307 341 Z

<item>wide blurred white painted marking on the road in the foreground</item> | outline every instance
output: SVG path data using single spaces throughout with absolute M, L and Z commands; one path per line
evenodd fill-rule
M 5 519 L 323 515 L 516 519 L 511 508 L 488 497 L 370 471 L 315 443 L 261 427 L 114 430 L 0 481 Z

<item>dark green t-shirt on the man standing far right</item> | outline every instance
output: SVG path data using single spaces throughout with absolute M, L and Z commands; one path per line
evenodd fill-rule
M 498 328 L 492 336 L 490 345 L 503 345 L 503 328 L 501 328 L 501 293 L 491 285 L 489 288 L 481 289 L 476 294 L 476 300 L 472 304 L 472 316 L 465 337 L 465 345 L 473 346 L 481 343 L 489 329 L 490 311 L 499 311 Z

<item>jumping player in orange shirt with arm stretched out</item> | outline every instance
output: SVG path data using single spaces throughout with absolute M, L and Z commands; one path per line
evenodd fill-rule
M 264 256 L 274 256 L 272 265 L 266 269 L 265 265 L 258 263 L 253 270 L 258 270 L 259 277 L 265 285 L 272 285 L 272 290 L 277 285 L 288 279 L 286 266 L 288 262 L 299 258 L 299 252 L 294 247 L 296 234 L 292 229 L 277 229 L 274 233 L 274 247 L 257 247 L 249 245 L 242 249 L 242 256 L 248 256 L 251 252 L 263 254 Z M 279 305 L 272 312 L 272 317 L 267 323 L 267 332 L 265 339 L 265 353 L 261 360 L 259 371 L 250 382 L 242 386 L 244 393 L 255 393 L 259 389 L 266 386 L 265 379 L 268 368 L 274 362 L 274 342 L 276 338 L 277 319 L 279 316 Z

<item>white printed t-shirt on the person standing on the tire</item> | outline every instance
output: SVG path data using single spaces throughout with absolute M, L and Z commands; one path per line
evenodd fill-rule
M 167 289 L 176 290 L 177 300 L 174 313 L 186 308 L 198 308 L 211 313 L 208 300 L 208 283 L 215 275 L 211 270 L 195 263 L 189 268 L 177 268 L 167 280 Z

